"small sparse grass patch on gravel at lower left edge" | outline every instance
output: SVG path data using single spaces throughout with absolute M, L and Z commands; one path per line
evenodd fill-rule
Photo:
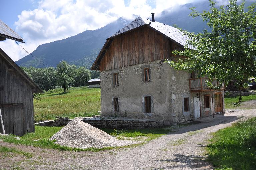
M 10 155 L 9 153 L 11 153 L 12 155 Z M 16 148 L 8 148 L 6 146 L 0 146 L 0 155 L 9 156 L 9 157 L 13 157 L 13 155 L 22 155 L 27 158 L 32 157 L 32 154 L 29 152 L 20 151 L 20 150 L 17 150 Z

